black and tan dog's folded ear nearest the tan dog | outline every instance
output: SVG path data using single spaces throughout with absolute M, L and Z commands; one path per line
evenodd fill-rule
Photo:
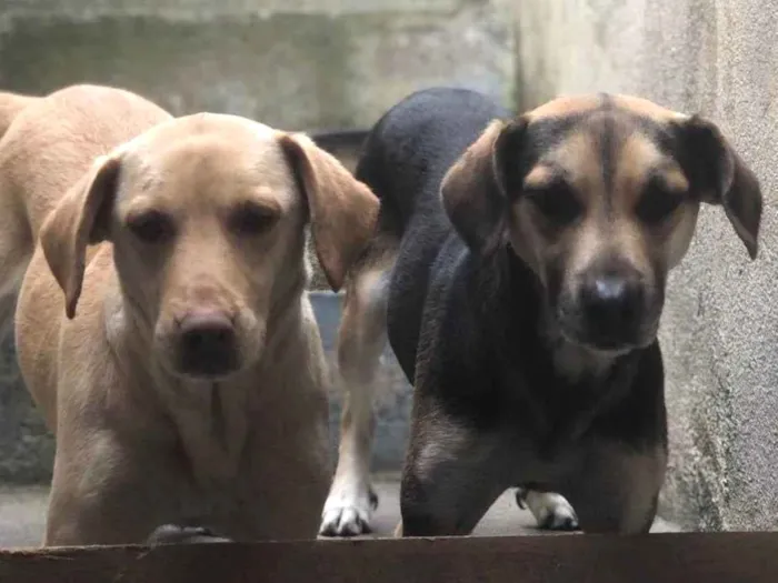
M 510 195 L 506 155 L 520 141 L 525 127 L 522 118 L 510 123 L 492 121 L 442 180 L 443 209 L 473 251 L 487 254 L 502 238 Z

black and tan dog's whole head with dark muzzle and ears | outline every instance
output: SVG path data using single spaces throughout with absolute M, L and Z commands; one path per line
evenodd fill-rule
M 724 207 L 751 259 L 762 204 L 715 124 L 624 96 L 560 98 L 492 122 L 441 194 L 473 251 L 510 243 L 532 269 L 565 339 L 612 353 L 656 338 L 701 202 Z

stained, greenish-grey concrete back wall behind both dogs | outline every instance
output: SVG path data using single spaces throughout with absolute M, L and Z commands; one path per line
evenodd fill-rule
M 0 0 L 0 88 L 76 82 L 138 91 L 176 114 L 210 110 L 292 130 L 367 128 L 423 87 L 510 103 L 506 0 Z M 315 283 L 322 287 L 317 272 Z M 315 300 L 332 355 L 339 300 Z M 397 469 L 409 388 L 390 352 L 380 376 L 377 469 Z M 332 399 L 333 436 L 340 394 Z M 46 481 L 53 442 L 12 346 L 0 351 L 0 483 Z

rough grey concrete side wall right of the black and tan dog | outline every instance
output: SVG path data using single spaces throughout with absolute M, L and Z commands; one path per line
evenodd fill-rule
M 778 527 L 776 143 L 778 4 L 767 0 L 517 2 L 521 102 L 639 93 L 721 127 L 761 180 L 749 262 L 706 209 L 662 322 L 672 455 L 662 513 L 687 527 Z

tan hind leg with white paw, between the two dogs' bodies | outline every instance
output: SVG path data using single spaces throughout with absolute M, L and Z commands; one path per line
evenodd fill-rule
M 387 295 L 393 259 L 393 252 L 385 252 L 363 261 L 346 290 L 338 338 L 343 388 L 338 468 L 319 531 L 328 536 L 369 532 L 370 516 L 378 504 L 370 484 L 373 383 L 387 345 Z

